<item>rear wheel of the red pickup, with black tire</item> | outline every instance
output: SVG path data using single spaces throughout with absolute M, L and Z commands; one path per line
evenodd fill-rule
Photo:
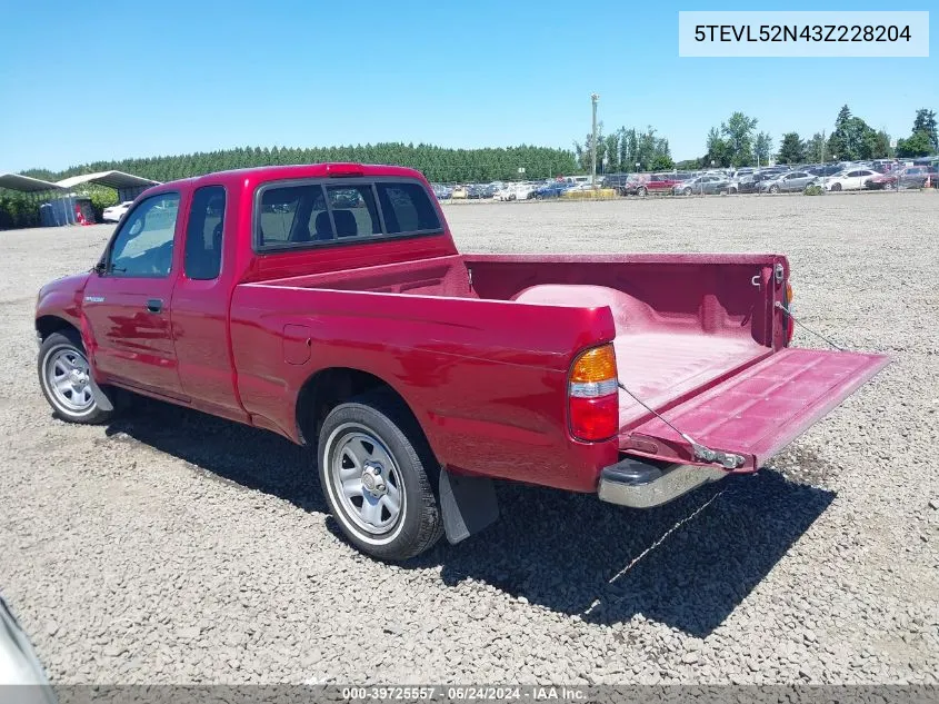
M 374 458 L 373 462 L 361 463 L 348 457 L 346 450 L 356 443 Z M 333 408 L 320 429 L 317 459 L 320 486 L 330 512 L 359 551 L 379 559 L 399 562 L 423 553 L 443 535 L 443 520 L 433 490 L 439 480 L 439 466 L 420 427 L 396 397 L 370 393 Z M 384 466 L 388 459 L 390 467 Z M 341 473 L 354 475 L 359 465 L 378 467 L 377 474 L 384 482 L 379 486 L 386 487 L 384 494 L 391 494 L 392 488 L 397 493 L 399 509 L 393 522 L 394 514 L 383 507 L 384 494 L 376 497 L 366 488 L 364 470 L 360 475 L 361 497 L 349 497 L 340 490 L 343 483 L 350 480 L 343 482 Z M 354 477 L 351 480 L 354 482 Z M 374 476 L 369 480 L 373 484 Z M 367 502 L 372 508 L 380 505 L 377 509 L 379 522 L 391 522 L 386 529 L 366 519 Z M 389 514 L 388 519 L 383 518 L 384 513 Z

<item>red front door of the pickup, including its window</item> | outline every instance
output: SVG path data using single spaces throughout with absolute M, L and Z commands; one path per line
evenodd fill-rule
M 172 398 L 184 398 L 170 310 L 179 205 L 176 191 L 137 204 L 99 274 L 89 278 L 82 304 L 93 337 L 90 353 L 104 380 Z

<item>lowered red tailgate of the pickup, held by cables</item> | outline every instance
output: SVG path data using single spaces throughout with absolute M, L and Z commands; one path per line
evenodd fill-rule
M 880 371 L 886 355 L 783 349 L 740 374 L 662 412 L 678 429 L 716 450 L 745 458 L 755 472 Z M 633 403 L 628 397 L 621 403 Z M 689 444 L 656 417 L 625 429 L 620 449 L 683 464 Z

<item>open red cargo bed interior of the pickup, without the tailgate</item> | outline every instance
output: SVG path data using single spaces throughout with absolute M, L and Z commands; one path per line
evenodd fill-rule
M 766 256 L 749 255 L 453 255 L 264 284 L 506 301 L 531 307 L 533 320 L 543 319 L 545 306 L 609 306 L 620 380 L 663 408 L 771 351 L 759 339 L 767 325 L 751 282 L 771 265 Z M 621 432 L 647 416 L 620 393 Z

